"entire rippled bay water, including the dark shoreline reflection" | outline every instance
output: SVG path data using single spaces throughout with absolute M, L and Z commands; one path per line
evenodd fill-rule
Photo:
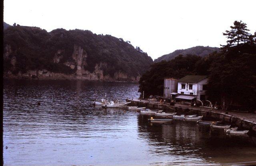
M 125 100 L 138 97 L 137 91 L 138 84 L 124 82 L 5 80 L 4 164 L 205 165 L 256 160 L 252 136 L 228 136 L 179 120 L 151 125 L 137 112 L 90 105 L 105 94 Z

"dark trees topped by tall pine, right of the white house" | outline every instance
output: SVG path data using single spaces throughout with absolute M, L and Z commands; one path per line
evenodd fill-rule
M 232 104 L 251 109 L 256 105 L 255 36 L 246 32 L 246 24 L 241 21 L 230 28 L 223 33 L 228 36 L 227 45 L 211 64 L 208 95 L 225 109 Z

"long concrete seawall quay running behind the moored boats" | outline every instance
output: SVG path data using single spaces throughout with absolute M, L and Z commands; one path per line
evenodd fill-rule
M 169 106 L 168 104 L 160 104 L 159 102 L 148 102 L 146 100 L 133 100 L 133 99 L 127 99 L 127 101 L 131 102 L 130 105 L 132 106 L 140 106 L 140 107 L 147 107 L 147 108 L 153 108 L 153 109 L 161 109 L 165 110 L 166 112 L 183 112 L 184 114 L 198 114 L 200 116 L 204 116 L 205 118 L 214 118 L 217 120 L 223 120 L 224 122 L 230 123 L 232 125 L 235 125 L 239 128 L 250 130 L 250 132 L 256 133 L 256 123 L 252 120 L 254 120 L 254 117 L 248 118 L 247 113 L 239 113 L 239 117 L 236 116 L 235 112 L 229 112 L 229 114 L 226 114 L 225 112 L 222 112 L 220 110 L 210 110 L 210 108 L 191 108 L 191 106 L 188 107 L 180 107 L 180 106 Z M 244 118 L 241 114 L 244 114 Z M 256 117 L 256 115 L 255 115 Z M 256 121 L 256 118 L 255 118 Z

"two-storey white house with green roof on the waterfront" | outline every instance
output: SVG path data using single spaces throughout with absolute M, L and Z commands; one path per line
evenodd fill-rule
M 178 80 L 178 93 L 181 95 L 194 95 L 198 100 L 205 100 L 206 84 L 208 83 L 207 76 L 188 75 Z

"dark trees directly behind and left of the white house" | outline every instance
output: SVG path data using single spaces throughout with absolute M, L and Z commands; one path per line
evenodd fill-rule
M 179 79 L 191 74 L 204 75 L 204 71 L 208 70 L 208 66 L 201 66 L 201 64 L 198 63 L 200 61 L 202 61 L 202 57 L 200 56 L 179 55 L 168 62 L 161 61 L 152 64 L 150 70 L 140 78 L 139 92 L 144 91 L 144 97 L 148 97 L 151 94 L 162 95 L 164 89 L 164 77 Z M 204 68 L 204 70 L 202 70 L 202 68 Z

